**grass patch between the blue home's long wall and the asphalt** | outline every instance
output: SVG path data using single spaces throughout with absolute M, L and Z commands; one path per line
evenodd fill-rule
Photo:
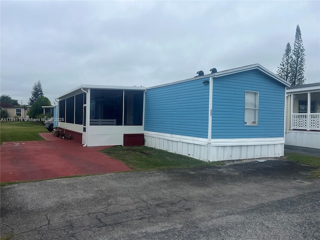
M 114 146 L 101 150 L 106 155 L 122 161 L 136 171 L 156 169 L 223 165 L 223 162 L 206 162 L 188 156 L 147 146 Z

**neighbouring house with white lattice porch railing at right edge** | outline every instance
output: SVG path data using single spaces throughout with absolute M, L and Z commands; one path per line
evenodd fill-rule
M 285 144 L 320 148 L 320 82 L 286 89 Z

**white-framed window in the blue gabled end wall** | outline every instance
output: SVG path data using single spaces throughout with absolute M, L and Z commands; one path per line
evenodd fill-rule
M 245 91 L 244 125 L 258 124 L 259 92 Z

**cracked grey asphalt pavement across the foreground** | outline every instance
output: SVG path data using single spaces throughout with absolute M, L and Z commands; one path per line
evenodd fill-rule
M 230 163 L 230 162 L 228 162 Z M 320 178 L 280 158 L 1 187 L 12 239 L 320 239 Z

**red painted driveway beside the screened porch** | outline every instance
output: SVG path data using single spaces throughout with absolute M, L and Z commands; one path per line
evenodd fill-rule
M 60 176 L 128 171 L 124 163 L 73 140 L 39 133 L 45 141 L 3 142 L 0 181 L 38 180 Z

